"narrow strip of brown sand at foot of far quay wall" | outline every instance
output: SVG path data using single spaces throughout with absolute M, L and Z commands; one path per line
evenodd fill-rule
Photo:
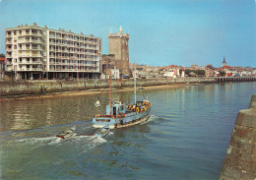
M 143 87 L 144 90 L 163 90 L 163 89 L 174 89 L 174 88 L 183 88 L 187 86 L 200 86 L 207 84 L 173 84 L 173 85 L 160 85 L 160 86 L 149 86 Z M 141 87 L 137 87 L 139 90 Z M 67 96 L 81 96 L 81 95 L 96 95 L 100 93 L 107 93 L 109 89 L 91 89 L 91 90 L 73 90 L 73 91 L 61 91 L 61 92 L 49 92 L 49 93 L 41 93 L 41 94 L 19 94 L 19 95 L 7 95 L 1 96 L 1 101 L 11 101 L 11 100 L 28 100 L 28 99 L 41 99 L 41 98 L 53 98 L 53 97 L 67 97 Z M 134 88 L 122 88 L 122 89 L 113 89 L 121 91 L 132 91 Z

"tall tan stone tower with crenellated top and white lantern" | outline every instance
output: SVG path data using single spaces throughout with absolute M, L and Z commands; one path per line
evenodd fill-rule
M 119 28 L 119 33 L 108 33 L 108 54 L 113 54 L 117 61 L 117 69 L 123 75 L 129 75 L 129 34 L 124 33 L 122 27 Z

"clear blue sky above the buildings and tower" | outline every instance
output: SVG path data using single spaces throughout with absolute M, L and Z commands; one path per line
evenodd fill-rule
M 47 26 L 102 38 L 130 34 L 130 63 L 151 66 L 256 68 L 256 0 L 0 0 L 0 53 L 5 29 Z

